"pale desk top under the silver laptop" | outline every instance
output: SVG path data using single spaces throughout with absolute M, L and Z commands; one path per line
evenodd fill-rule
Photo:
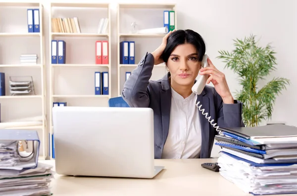
M 72 177 L 55 174 L 53 196 L 252 196 L 202 168 L 216 159 L 156 159 L 165 169 L 153 179 Z M 41 160 L 54 166 L 54 160 Z M 54 169 L 54 167 L 53 167 Z M 297 195 L 288 195 L 297 196 Z

